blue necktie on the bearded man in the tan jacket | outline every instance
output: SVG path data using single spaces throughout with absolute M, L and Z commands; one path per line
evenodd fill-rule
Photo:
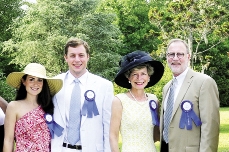
M 166 143 L 169 142 L 169 125 L 170 119 L 173 112 L 173 103 L 174 103 L 174 94 L 176 89 L 177 80 L 176 78 L 173 79 L 172 85 L 170 87 L 170 92 L 167 100 L 165 115 L 164 115 L 164 130 L 163 130 L 163 139 Z

